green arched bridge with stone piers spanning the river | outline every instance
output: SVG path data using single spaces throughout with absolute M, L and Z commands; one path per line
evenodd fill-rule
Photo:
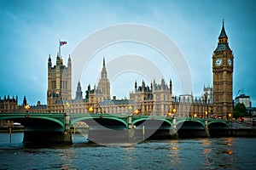
M 229 121 L 207 117 L 23 112 L 0 113 L 0 120 L 20 122 L 25 127 L 24 143 L 72 143 L 76 122 L 89 126 L 88 139 L 92 141 L 212 137 L 230 133 Z

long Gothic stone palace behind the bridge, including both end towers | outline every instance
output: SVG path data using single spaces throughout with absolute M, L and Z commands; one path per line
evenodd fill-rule
M 161 79 L 160 82 L 153 80 L 150 84 L 134 82 L 129 99 L 111 97 L 108 65 L 103 58 L 101 77 L 97 85 L 88 85 L 83 91 L 81 83 L 78 82 L 75 99 L 72 99 L 72 58 L 69 56 L 67 65 L 64 65 L 60 54 L 57 54 L 53 65 L 49 55 L 47 105 L 38 103 L 25 108 L 26 101 L 18 106 L 17 98 L 4 97 L 0 98 L 0 110 L 155 116 L 176 114 L 181 117 L 215 115 L 227 119 L 229 114 L 233 114 L 233 64 L 234 57 L 223 23 L 217 48 L 212 54 L 213 87 L 205 86 L 200 97 L 194 97 L 193 93 L 174 96 L 171 79 Z

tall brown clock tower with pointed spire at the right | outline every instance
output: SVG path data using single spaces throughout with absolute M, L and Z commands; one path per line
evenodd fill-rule
M 218 46 L 212 55 L 213 114 L 227 119 L 233 115 L 233 69 L 234 56 L 224 29 L 218 37 Z

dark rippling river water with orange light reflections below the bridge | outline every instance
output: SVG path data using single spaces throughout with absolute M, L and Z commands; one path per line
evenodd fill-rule
M 170 139 L 104 146 L 22 144 L 0 133 L 0 169 L 256 169 L 256 138 Z

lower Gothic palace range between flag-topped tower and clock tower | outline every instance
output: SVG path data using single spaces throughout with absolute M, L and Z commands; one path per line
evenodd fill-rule
M 134 90 L 130 93 L 130 99 L 110 99 L 110 83 L 108 82 L 108 71 L 103 59 L 102 77 L 97 86 L 93 88 L 88 85 L 85 95 L 81 83 L 78 82 L 75 99 L 58 99 L 48 106 L 50 112 L 69 113 L 104 113 L 104 114 L 136 114 L 168 116 L 199 116 L 205 117 L 212 113 L 212 102 L 201 98 L 194 98 L 191 94 L 172 96 L 172 80 L 169 84 L 161 79 L 160 83 L 155 81 L 141 86 L 135 82 Z M 49 79 L 50 80 L 50 79 Z M 175 109 L 175 110 L 174 110 Z

